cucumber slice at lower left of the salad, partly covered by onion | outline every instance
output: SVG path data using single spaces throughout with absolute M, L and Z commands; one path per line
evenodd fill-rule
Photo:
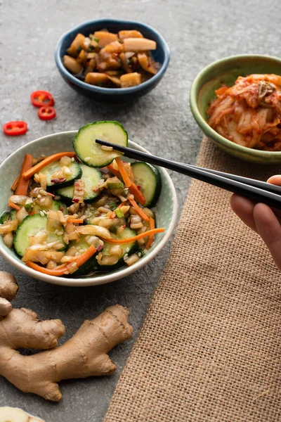
M 40 214 L 28 215 L 18 226 L 13 239 L 13 247 L 20 257 L 23 257 L 25 250 L 30 247 L 28 238 L 34 236 L 39 231 L 46 230 L 47 228 L 47 217 L 42 217 Z M 50 233 L 47 242 L 61 241 L 63 242 L 63 236 Z

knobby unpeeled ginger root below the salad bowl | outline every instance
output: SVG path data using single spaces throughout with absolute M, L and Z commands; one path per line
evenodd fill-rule
M 18 286 L 11 274 L 0 273 L 0 295 L 7 302 Z M 9 303 L 9 302 L 8 302 Z M 121 305 L 105 309 L 96 319 L 84 321 L 77 333 L 59 347 L 65 333 L 60 319 L 39 321 L 29 309 L 9 309 L 0 317 L 0 375 L 23 392 L 58 402 L 58 381 L 110 375 L 116 366 L 107 355 L 112 347 L 131 338 L 129 310 Z M 6 311 L 7 312 L 7 311 Z M 44 349 L 24 356 L 18 349 Z

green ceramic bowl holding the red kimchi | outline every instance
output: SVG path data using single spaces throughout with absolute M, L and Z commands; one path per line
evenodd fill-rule
M 207 109 L 209 102 L 216 98 L 214 91 L 221 83 L 231 86 L 238 76 L 247 76 L 251 73 L 275 73 L 281 75 L 281 60 L 277 57 L 243 55 L 222 58 L 204 68 L 195 77 L 190 90 L 190 108 L 196 122 L 204 134 L 219 148 L 228 154 L 242 160 L 273 163 L 281 162 L 281 152 L 259 151 L 229 141 L 207 124 Z

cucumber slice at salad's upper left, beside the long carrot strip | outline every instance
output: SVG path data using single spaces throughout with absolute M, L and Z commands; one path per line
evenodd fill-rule
M 46 167 L 41 170 L 41 173 L 45 174 L 47 178 L 48 191 L 55 191 L 58 188 L 65 188 L 65 186 L 70 186 L 74 183 L 74 180 L 79 179 L 79 177 L 81 177 L 81 167 L 78 162 L 72 161 L 70 165 L 67 166 L 67 168 L 70 170 L 71 174 L 64 175 L 65 181 L 62 181 L 60 183 L 54 183 L 51 181 L 51 179 L 53 179 L 53 174 L 62 170 L 59 161 L 51 162 L 51 164 L 46 165 Z

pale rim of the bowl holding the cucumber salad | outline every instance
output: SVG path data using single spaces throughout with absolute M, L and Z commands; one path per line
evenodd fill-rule
M 23 153 L 25 153 L 27 146 L 29 146 L 31 144 L 40 143 L 42 139 L 46 139 L 46 138 L 50 138 L 50 137 L 58 136 L 58 135 L 62 135 L 62 134 L 68 134 L 70 136 L 74 136 L 75 134 L 77 134 L 77 132 L 78 132 L 77 130 L 70 130 L 70 131 L 65 131 L 65 132 L 56 132 L 54 134 L 41 136 L 40 138 L 34 139 L 34 141 L 30 141 L 29 143 L 25 143 L 25 145 L 21 146 L 20 148 L 16 149 L 15 151 L 13 151 L 13 153 L 11 153 L 11 155 L 9 155 L 6 158 L 6 160 L 4 160 L 1 163 L 0 168 L 2 166 L 4 166 L 6 164 L 6 162 L 13 160 L 13 156 L 15 154 L 18 154 L 19 151 L 22 151 Z M 137 147 L 139 151 L 143 151 L 144 153 L 150 153 L 145 148 L 138 145 L 136 142 L 129 140 L 129 145 L 132 146 L 132 147 Z M 174 228 L 176 226 L 176 220 L 177 220 L 177 216 L 178 216 L 178 198 L 176 196 L 176 188 L 174 186 L 173 181 L 171 180 L 171 177 L 169 176 L 169 173 L 164 168 L 161 168 L 161 170 L 164 173 L 164 177 L 165 177 L 167 184 L 169 186 L 169 190 L 171 191 L 172 201 L 173 201 L 173 204 L 174 204 L 173 207 L 172 207 L 171 223 L 170 223 L 169 229 L 164 231 L 164 236 L 161 239 L 161 241 L 159 241 L 159 243 L 156 245 L 155 249 L 153 249 L 151 252 L 148 252 L 145 255 L 145 257 L 143 257 L 141 260 L 136 262 L 136 264 L 133 264 L 131 267 L 125 267 L 124 269 L 119 271 L 119 273 L 116 273 L 116 271 L 113 271 L 112 273 L 108 273 L 108 274 L 105 273 L 105 275 L 102 275 L 102 276 L 96 276 L 96 277 L 92 276 L 92 277 L 88 277 L 88 278 L 81 277 L 81 278 L 77 278 L 77 279 L 71 279 L 71 278 L 50 276 L 48 274 L 39 273 L 38 271 L 36 271 L 36 270 L 34 270 L 30 267 L 27 267 L 22 262 L 19 262 L 18 260 L 16 260 L 15 257 L 13 257 L 13 255 L 10 255 L 4 249 L 3 245 L 0 244 L 1 255 L 6 259 L 6 261 L 8 261 L 10 264 L 12 264 L 13 267 L 15 267 L 16 269 L 18 269 L 18 270 L 24 272 L 25 274 L 31 276 L 32 278 L 40 279 L 42 281 L 46 281 L 47 283 L 51 283 L 51 284 L 57 284 L 59 286 L 70 286 L 70 287 L 74 287 L 74 286 L 75 287 L 99 286 L 101 284 L 110 283 L 112 281 L 123 279 L 124 277 L 129 276 L 133 272 L 135 272 L 138 269 L 140 269 L 141 267 L 143 267 L 145 264 L 148 264 L 148 262 L 150 262 L 158 254 L 158 252 L 160 252 L 160 250 L 162 250 L 162 248 L 164 248 L 164 245 L 166 245 L 166 243 L 168 242 L 168 240 L 171 237 L 171 234 L 173 233 Z

